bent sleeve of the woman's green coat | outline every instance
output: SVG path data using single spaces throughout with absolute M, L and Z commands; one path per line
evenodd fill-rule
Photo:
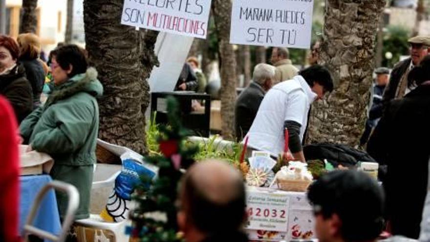
M 95 110 L 90 104 L 56 104 L 46 110 L 41 121 L 49 128 L 34 135 L 33 149 L 47 154 L 76 152 L 93 126 Z

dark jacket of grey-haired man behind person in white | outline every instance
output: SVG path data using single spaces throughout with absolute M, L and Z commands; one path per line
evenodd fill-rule
M 258 108 L 264 98 L 265 91 L 261 86 L 252 82 L 237 97 L 235 107 L 235 130 L 237 139 L 242 140 L 251 128 L 257 115 Z

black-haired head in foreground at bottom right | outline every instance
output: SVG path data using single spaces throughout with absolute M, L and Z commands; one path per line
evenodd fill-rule
M 365 173 L 325 174 L 310 186 L 308 198 L 320 242 L 372 242 L 382 232 L 384 194 Z

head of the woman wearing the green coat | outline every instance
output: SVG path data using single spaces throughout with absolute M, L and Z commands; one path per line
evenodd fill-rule
M 83 49 L 75 44 L 64 45 L 56 50 L 52 58 L 51 71 L 55 85 L 86 72 L 88 63 Z

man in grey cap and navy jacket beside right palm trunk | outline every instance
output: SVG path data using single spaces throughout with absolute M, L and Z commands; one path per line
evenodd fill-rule
M 366 121 L 366 129 L 360 139 L 360 145 L 363 146 L 367 143 L 370 133 L 378 124 L 382 116 L 383 103 L 382 95 L 388 84 L 389 69 L 387 67 L 379 67 L 375 69 L 376 79 L 373 87 L 371 88 L 372 99 L 369 105 L 369 118 Z

